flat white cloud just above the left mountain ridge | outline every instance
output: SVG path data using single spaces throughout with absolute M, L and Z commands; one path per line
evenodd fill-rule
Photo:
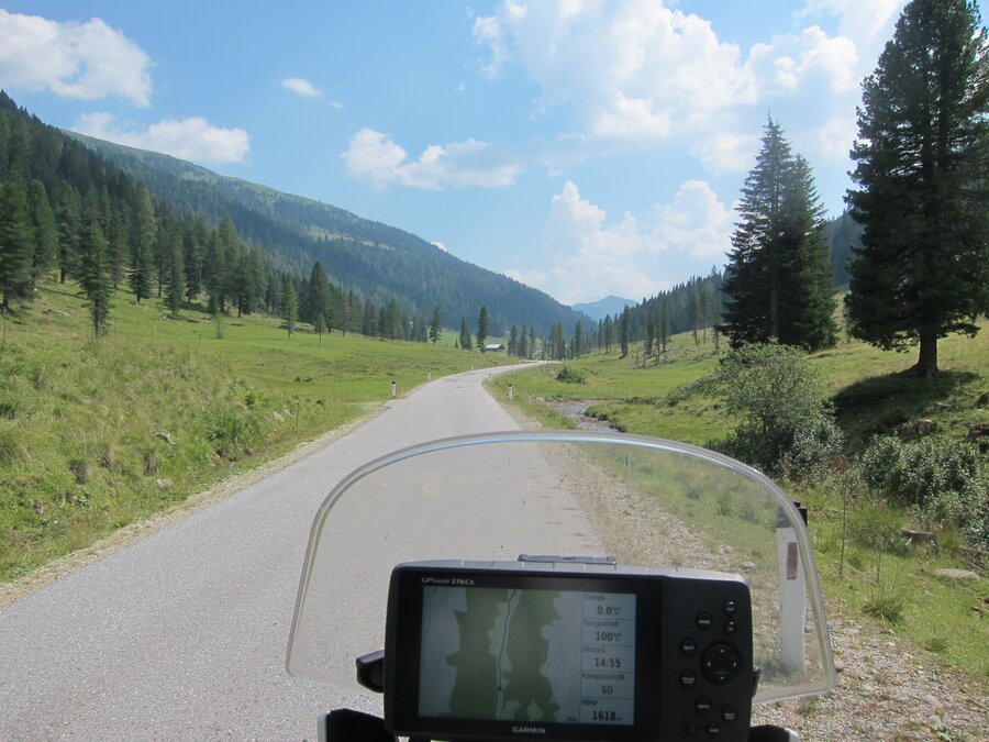
M 130 147 L 162 152 L 199 163 L 242 163 L 251 151 L 243 129 L 220 129 L 201 118 L 165 119 L 147 129 L 127 129 L 110 113 L 88 113 L 73 129 Z

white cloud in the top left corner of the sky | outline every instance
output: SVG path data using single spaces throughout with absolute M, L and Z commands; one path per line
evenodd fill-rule
M 151 58 L 95 18 L 49 21 L 0 9 L 0 87 L 51 90 L 63 98 L 126 98 L 151 104 Z

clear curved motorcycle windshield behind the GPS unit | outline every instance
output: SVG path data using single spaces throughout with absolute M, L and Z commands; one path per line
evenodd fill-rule
M 786 492 L 744 464 L 682 443 L 546 431 L 424 444 L 337 485 L 312 527 L 288 672 L 367 693 L 354 663 L 385 646 L 395 565 L 520 554 L 741 575 L 760 668 L 755 702 L 834 686 L 810 540 Z

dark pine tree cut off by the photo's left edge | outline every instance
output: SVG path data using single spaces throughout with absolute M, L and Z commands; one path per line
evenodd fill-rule
M 20 174 L 0 186 L 0 311 L 13 299 L 26 299 L 34 289 L 34 234 L 27 192 Z

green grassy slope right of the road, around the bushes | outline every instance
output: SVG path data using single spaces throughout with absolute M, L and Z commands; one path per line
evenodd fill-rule
M 980 328 L 974 340 L 953 336 L 938 343 L 943 374 L 931 380 L 897 376 L 913 363 L 913 354 L 884 353 L 858 342 L 812 356 L 848 436 L 844 465 L 854 463 L 871 435 L 910 435 L 919 421 L 929 421 L 935 435 L 955 440 L 965 439 L 970 425 L 989 423 L 989 403 L 982 398 L 989 392 L 989 322 Z M 697 347 L 690 335 L 677 335 L 666 361 L 643 365 L 641 347 L 633 346 L 626 358 L 599 353 L 567 362 L 567 374 L 560 374 L 563 366 L 546 366 L 499 376 L 492 384 L 505 399 L 512 384 L 516 403 L 549 425 L 566 424 L 552 402 L 574 399 L 630 433 L 708 446 L 726 436 L 736 421 L 716 400 L 670 395 L 714 368 L 711 344 Z M 989 472 L 985 452 L 984 472 Z M 940 530 L 934 546 L 908 545 L 901 529 L 921 525 L 915 513 L 853 487 L 837 473 L 786 486 L 810 509 L 833 613 L 878 621 L 884 630 L 912 640 L 918 652 L 932 653 L 989 688 L 989 624 L 984 618 L 989 579 L 946 583 L 935 575 L 942 567 L 971 568 L 957 530 Z

